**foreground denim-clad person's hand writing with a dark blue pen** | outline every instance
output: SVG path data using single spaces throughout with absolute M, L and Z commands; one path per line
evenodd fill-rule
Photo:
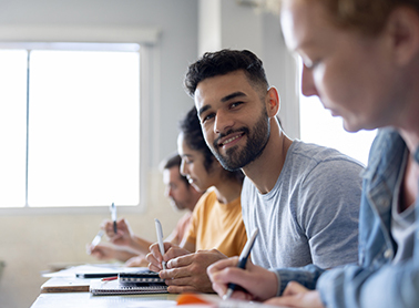
M 238 257 L 221 260 L 208 267 L 207 273 L 213 289 L 223 297 L 229 283 L 243 287 L 235 290 L 232 298 L 244 300 L 266 300 L 276 295 L 278 279 L 275 273 L 247 261 L 246 269 L 237 267 Z

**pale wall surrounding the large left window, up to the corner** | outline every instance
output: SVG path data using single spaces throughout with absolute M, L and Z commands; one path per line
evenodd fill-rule
M 119 213 L 137 234 L 154 240 L 154 217 L 164 230 L 181 216 L 163 197 L 159 162 L 176 147 L 177 121 L 192 105 L 182 89 L 186 65 L 197 54 L 197 2 L 194 0 L 21 0 L 0 1 L 0 28 L 17 27 L 104 27 L 159 28 L 161 37 L 153 48 L 152 104 L 149 106 L 150 148 L 145 164 L 149 201 L 141 214 Z M 164 123 L 164 124 L 163 124 Z M 100 223 L 109 211 L 89 214 L 10 214 L 0 211 L 0 307 L 29 307 L 45 280 L 40 271 L 54 263 L 94 261 L 85 254 Z

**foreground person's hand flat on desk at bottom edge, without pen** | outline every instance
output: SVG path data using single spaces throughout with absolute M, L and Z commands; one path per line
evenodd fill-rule
M 324 308 L 320 295 L 316 290 L 309 290 L 296 281 L 290 281 L 282 297 L 274 297 L 264 304 L 299 307 L 299 308 Z

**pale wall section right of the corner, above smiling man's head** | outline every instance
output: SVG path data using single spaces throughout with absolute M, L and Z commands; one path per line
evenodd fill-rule
M 264 62 L 269 84 L 279 91 L 283 127 L 289 137 L 297 138 L 298 73 L 296 61 L 285 47 L 279 17 L 237 2 L 241 1 L 200 0 L 198 50 L 203 53 L 224 48 L 248 49 L 256 53 Z

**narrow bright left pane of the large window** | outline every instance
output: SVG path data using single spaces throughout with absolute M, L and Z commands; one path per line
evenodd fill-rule
M 27 52 L 0 51 L 0 206 L 24 206 Z

